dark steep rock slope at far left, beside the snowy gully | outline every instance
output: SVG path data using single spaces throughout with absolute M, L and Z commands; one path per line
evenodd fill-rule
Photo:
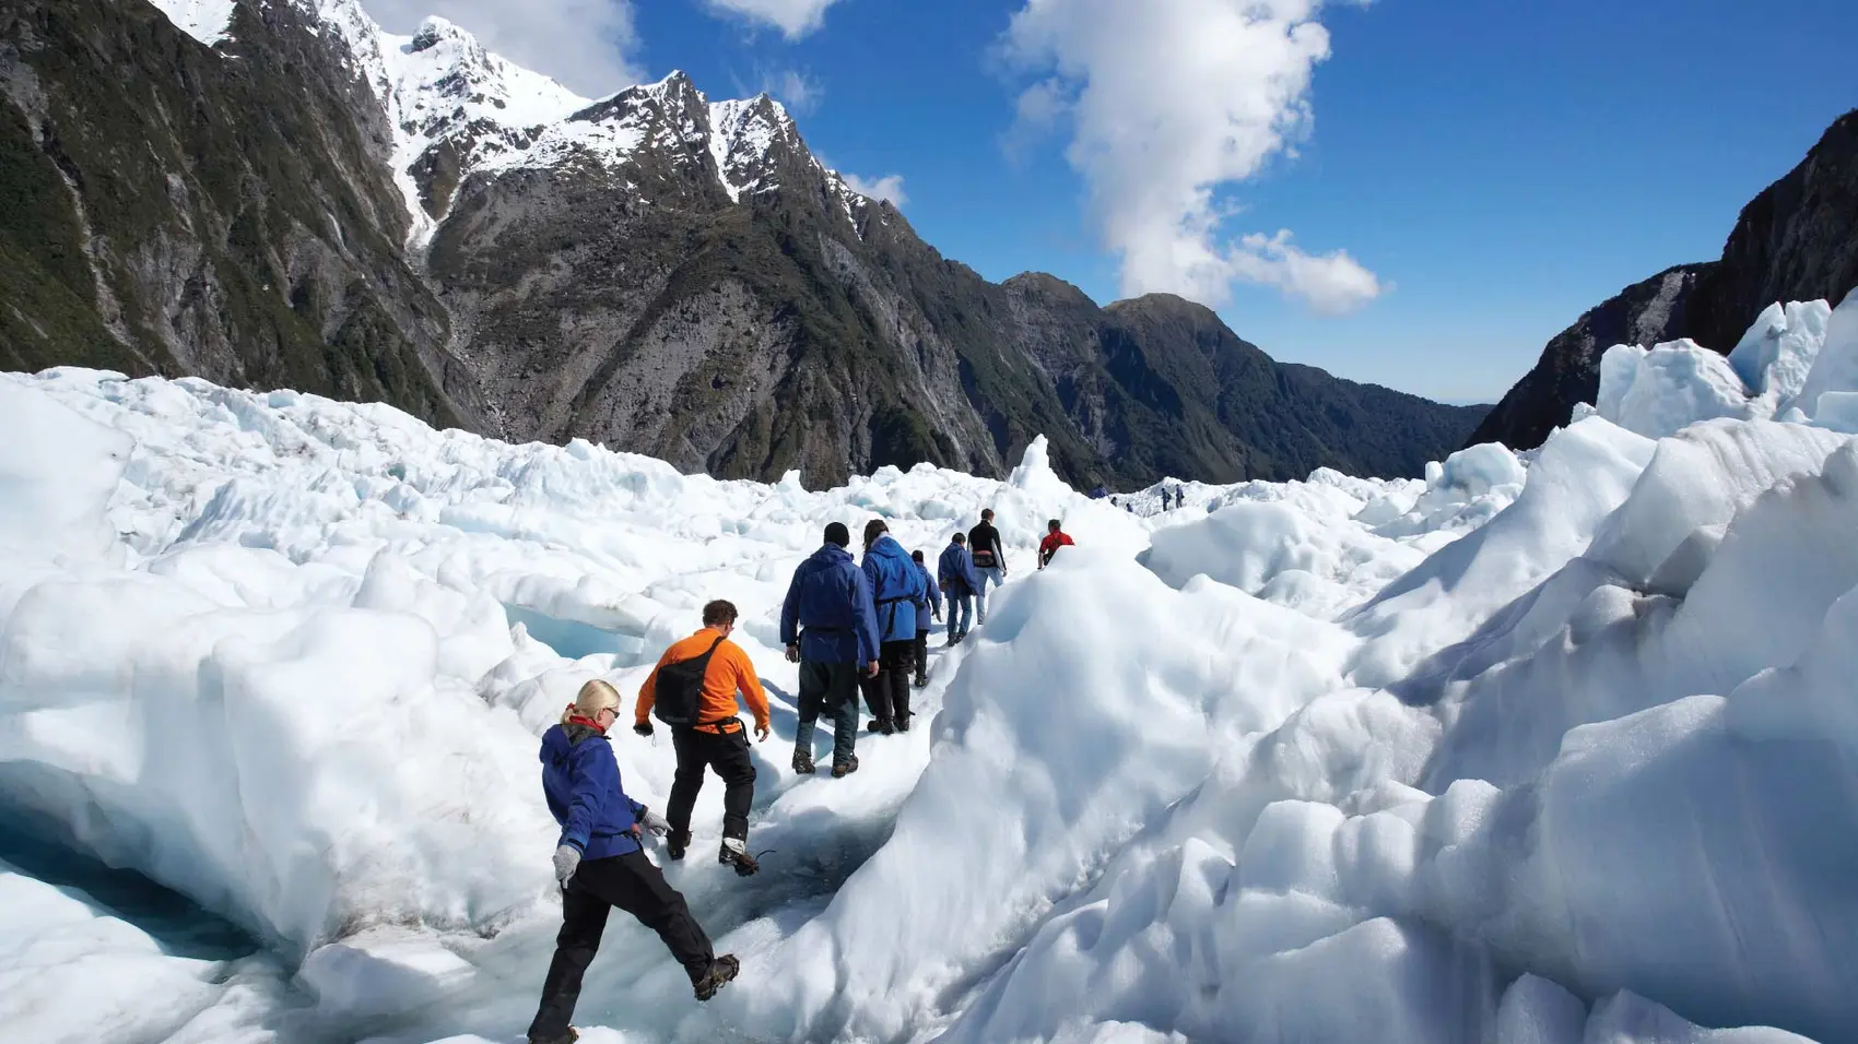
M 388 128 L 338 45 L 242 4 L 201 46 L 147 4 L 0 9 L 0 366 L 474 401 L 405 264 Z

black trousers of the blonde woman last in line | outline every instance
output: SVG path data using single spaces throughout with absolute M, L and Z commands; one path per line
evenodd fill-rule
M 691 977 L 691 985 L 710 973 L 715 951 L 710 936 L 691 916 L 684 895 L 665 882 L 665 875 L 645 858 L 645 853 L 595 858 L 580 864 L 561 894 L 561 934 L 556 936 L 556 959 L 543 981 L 543 1005 L 530 1024 L 530 1040 L 565 1037 L 580 999 L 582 977 L 600 951 L 606 933 L 606 914 L 613 907 L 626 910 L 641 925 L 658 933 L 671 955 Z

